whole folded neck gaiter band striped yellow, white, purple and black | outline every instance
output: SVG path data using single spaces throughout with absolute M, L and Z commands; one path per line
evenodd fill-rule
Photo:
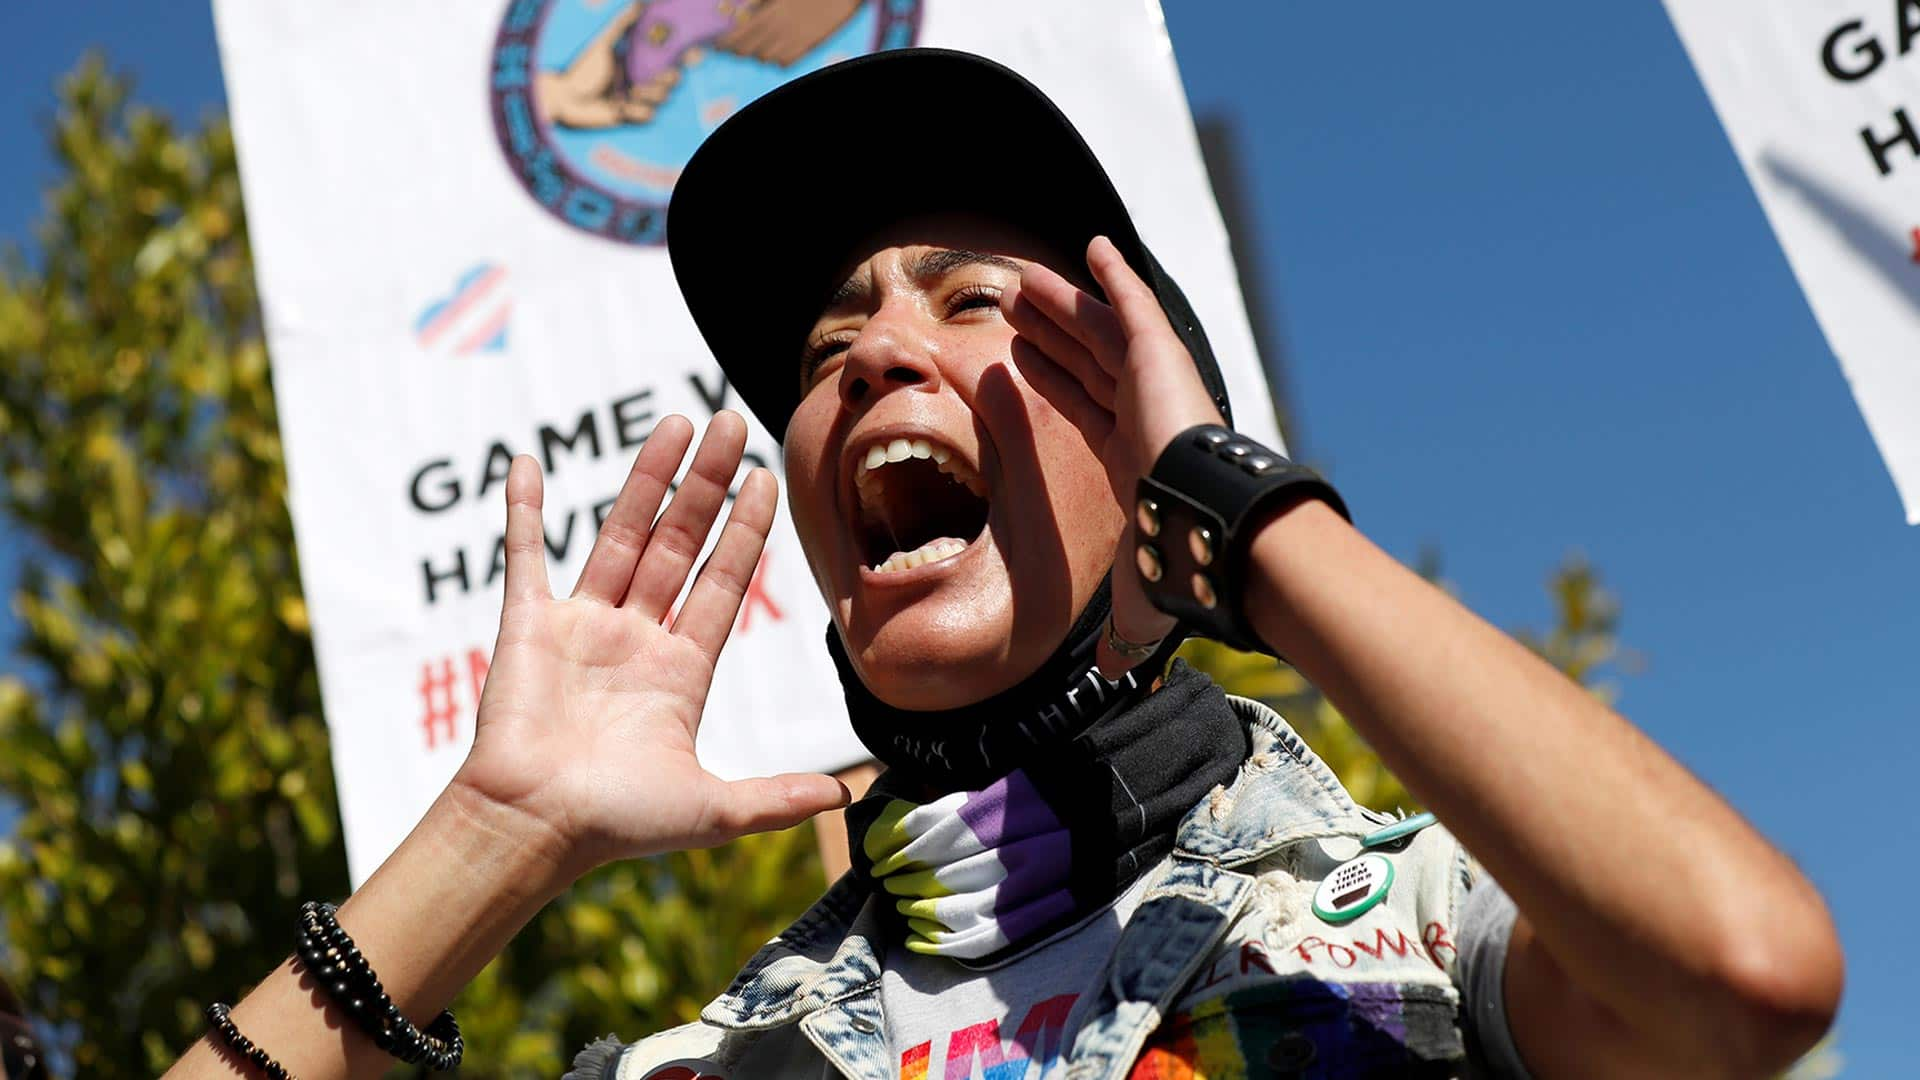
M 847 809 L 854 874 L 908 949 L 989 959 L 1125 892 L 1246 753 L 1219 686 L 1175 661 L 1160 690 L 1000 776 L 954 790 L 889 769 Z

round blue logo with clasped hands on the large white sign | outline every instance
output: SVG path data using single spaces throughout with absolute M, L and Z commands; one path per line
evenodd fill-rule
M 924 0 L 513 0 L 493 40 L 493 135 L 534 202 L 626 244 L 720 121 L 828 63 L 914 44 Z

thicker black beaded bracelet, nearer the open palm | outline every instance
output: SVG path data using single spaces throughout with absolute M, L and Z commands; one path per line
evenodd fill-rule
M 434 1072 L 457 1068 L 467 1043 L 453 1011 L 442 1009 L 424 1032 L 413 1026 L 386 995 L 372 965 L 334 917 L 336 911 L 330 903 L 311 899 L 300 907 L 300 961 L 307 972 L 380 1049 Z

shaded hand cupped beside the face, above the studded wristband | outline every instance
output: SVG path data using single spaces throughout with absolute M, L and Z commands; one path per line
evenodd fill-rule
M 1021 377 L 1106 463 L 1114 498 L 1127 509 L 1114 567 L 1114 630 L 1129 642 L 1154 642 L 1173 630 L 1173 619 L 1146 600 L 1133 573 L 1135 484 L 1175 434 L 1221 423 L 1221 415 L 1154 290 L 1112 240 L 1096 236 L 1087 246 L 1087 269 L 1112 304 L 1029 263 L 1020 286 L 1000 294 L 1000 311 L 1018 332 Z M 1133 663 L 1100 644 L 1100 671 L 1110 678 Z

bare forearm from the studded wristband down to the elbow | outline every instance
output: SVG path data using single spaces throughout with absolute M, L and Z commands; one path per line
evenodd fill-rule
M 1622 1020 L 1715 1030 L 1734 1020 L 1722 1007 L 1807 982 L 1782 972 L 1820 970 L 1824 955 L 1795 951 L 1832 949 L 1832 926 L 1778 851 L 1632 724 L 1327 505 L 1261 528 L 1248 580 L 1260 634 Z

